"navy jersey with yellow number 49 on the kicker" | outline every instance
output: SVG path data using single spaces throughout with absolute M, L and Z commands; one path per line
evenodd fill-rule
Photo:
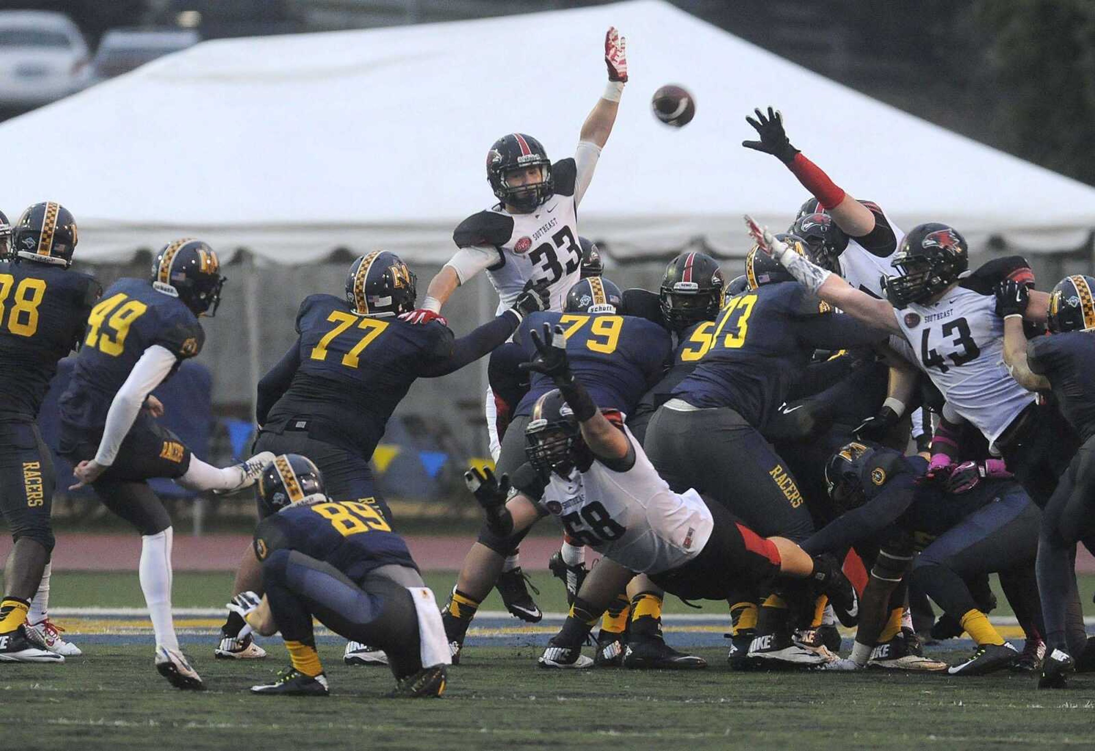
M 88 316 L 72 380 L 60 397 L 61 420 L 101 430 L 114 395 L 146 349 L 159 345 L 182 361 L 204 344 L 201 324 L 178 298 L 158 292 L 147 279 L 118 279 Z

